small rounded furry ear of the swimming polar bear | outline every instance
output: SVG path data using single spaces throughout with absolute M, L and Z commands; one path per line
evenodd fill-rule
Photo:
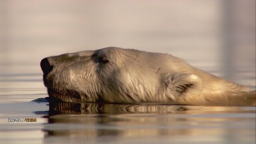
M 164 76 L 164 94 L 175 101 L 190 92 L 199 92 L 202 89 L 202 79 L 194 74 L 166 74 Z

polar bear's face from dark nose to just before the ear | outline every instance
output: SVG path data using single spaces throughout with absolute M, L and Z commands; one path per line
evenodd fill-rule
M 168 57 L 168 58 L 167 58 Z M 68 102 L 154 102 L 168 54 L 116 47 L 44 58 L 50 97 Z

